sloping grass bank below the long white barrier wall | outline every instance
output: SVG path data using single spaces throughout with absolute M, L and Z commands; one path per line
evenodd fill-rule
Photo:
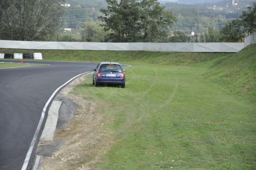
M 253 44 L 239 53 L 192 53 L 148 51 L 85 51 L 85 50 L 24 50 L 0 49 L 0 53 L 42 52 L 44 60 L 102 62 L 127 64 L 158 64 L 205 68 L 204 78 L 220 84 L 230 92 L 256 101 L 255 58 Z

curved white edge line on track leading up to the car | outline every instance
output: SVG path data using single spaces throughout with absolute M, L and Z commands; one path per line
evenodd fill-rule
M 39 134 L 39 131 L 40 131 L 40 129 L 41 129 L 41 126 L 42 126 L 42 122 L 43 122 L 43 120 L 44 120 L 44 116 L 45 116 L 46 109 L 47 109 L 49 103 L 52 101 L 52 98 L 54 98 L 54 96 L 55 96 L 55 94 L 58 92 L 58 90 L 60 90 L 60 89 L 61 89 L 62 87 L 64 87 L 64 86 L 66 86 L 69 82 L 71 82 L 71 81 L 74 80 L 75 78 L 77 78 L 77 77 L 79 77 L 79 76 L 81 76 L 81 75 L 83 75 L 83 74 L 87 74 L 87 73 L 90 73 L 90 72 L 85 72 L 85 73 L 79 74 L 79 75 L 77 75 L 77 76 L 71 78 L 71 79 L 68 80 L 66 83 L 64 83 L 62 86 L 60 86 L 59 88 L 57 88 L 57 89 L 53 92 L 52 96 L 50 96 L 50 98 L 49 98 L 48 101 L 46 102 L 46 104 L 45 104 L 45 106 L 44 106 L 44 109 L 43 109 L 43 111 L 42 111 L 42 115 L 41 115 L 40 121 L 39 121 L 38 126 L 37 126 L 37 128 L 36 128 L 36 132 L 35 132 L 35 134 L 34 134 L 34 137 L 33 137 L 33 139 L 32 139 L 32 142 L 31 142 L 31 144 L 30 144 L 30 147 L 29 147 L 29 149 L 28 149 L 28 152 L 27 152 L 27 155 L 26 155 L 26 158 L 25 158 L 25 160 L 24 160 L 24 163 L 23 163 L 23 166 L 22 166 L 21 170 L 26 170 L 27 167 L 28 167 L 28 162 L 29 162 L 29 160 L 30 160 L 30 157 L 31 157 L 31 154 L 32 154 L 34 145 L 36 144 L 36 139 L 37 139 L 38 134 Z

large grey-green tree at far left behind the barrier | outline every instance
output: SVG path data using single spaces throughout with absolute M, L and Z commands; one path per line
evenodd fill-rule
M 61 25 L 63 0 L 0 0 L 0 29 L 8 40 L 45 40 Z

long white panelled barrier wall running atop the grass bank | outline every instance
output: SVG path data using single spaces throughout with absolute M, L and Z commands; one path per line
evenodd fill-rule
M 0 40 L 0 48 L 166 52 L 238 52 L 244 43 L 37 42 Z M 1 51 L 0 51 L 1 52 Z

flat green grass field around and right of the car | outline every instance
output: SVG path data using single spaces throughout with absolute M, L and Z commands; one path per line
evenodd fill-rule
M 256 105 L 202 76 L 203 68 L 139 64 L 126 88 L 73 93 L 98 103 L 115 144 L 95 165 L 111 170 L 241 170 L 256 164 Z M 172 162 L 174 160 L 174 162 Z

